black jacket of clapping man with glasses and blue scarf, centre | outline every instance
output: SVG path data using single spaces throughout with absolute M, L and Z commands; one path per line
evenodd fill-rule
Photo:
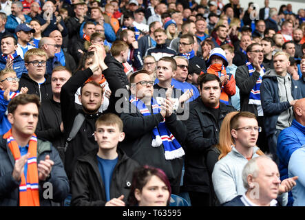
M 161 168 L 169 178 L 171 186 L 180 185 L 182 172 L 182 157 L 176 159 L 165 159 L 163 145 L 151 146 L 152 130 L 163 121 L 160 113 L 143 116 L 134 104 L 126 103 L 124 113 L 120 115 L 123 120 L 125 140 L 119 146 L 125 153 L 141 165 L 150 165 Z M 184 144 L 187 137 L 187 128 L 182 121 L 177 120 L 176 114 L 172 113 L 165 121 L 167 128 L 176 140 Z

